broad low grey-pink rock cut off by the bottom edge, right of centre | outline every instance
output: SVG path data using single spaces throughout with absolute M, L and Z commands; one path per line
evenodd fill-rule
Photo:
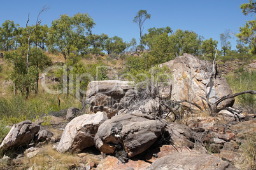
M 237 169 L 231 163 L 210 154 L 180 152 L 166 155 L 155 160 L 148 170 L 152 169 Z

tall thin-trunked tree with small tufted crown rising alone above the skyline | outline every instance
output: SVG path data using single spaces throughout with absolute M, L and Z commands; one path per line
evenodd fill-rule
M 143 23 L 145 20 L 150 19 L 151 15 L 146 12 L 146 10 L 140 10 L 138 11 L 137 15 L 134 17 L 133 22 L 137 23 L 139 26 L 139 41 L 140 41 L 140 47 L 141 50 L 143 50 L 143 44 L 142 44 L 142 36 L 143 36 Z

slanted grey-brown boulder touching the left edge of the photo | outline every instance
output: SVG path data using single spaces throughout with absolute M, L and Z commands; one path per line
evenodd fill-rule
M 6 150 L 10 147 L 20 147 L 21 145 L 29 144 L 39 129 L 39 124 L 31 121 L 23 121 L 13 125 L 0 145 L 0 149 Z

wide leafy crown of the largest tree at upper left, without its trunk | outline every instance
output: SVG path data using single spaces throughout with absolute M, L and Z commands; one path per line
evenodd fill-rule
M 85 13 L 77 13 L 72 17 L 61 15 L 58 20 L 52 22 L 49 29 L 48 48 L 57 48 L 65 60 L 74 48 L 77 53 L 87 51 L 89 40 L 86 36 L 91 34 L 94 25 L 93 19 Z

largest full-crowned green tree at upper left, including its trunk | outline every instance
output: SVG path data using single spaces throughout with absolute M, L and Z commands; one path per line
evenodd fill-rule
M 73 16 L 60 15 L 60 18 L 53 20 L 48 33 L 48 49 L 57 49 L 66 60 L 64 75 L 64 93 L 69 95 L 69 74 L 72 72 L 69 67 L 80 62 L 79 54 L 87 51 L 90 46 L 89 36 L 91 29 L 96 23 L 86 13 L 77 13 Z

